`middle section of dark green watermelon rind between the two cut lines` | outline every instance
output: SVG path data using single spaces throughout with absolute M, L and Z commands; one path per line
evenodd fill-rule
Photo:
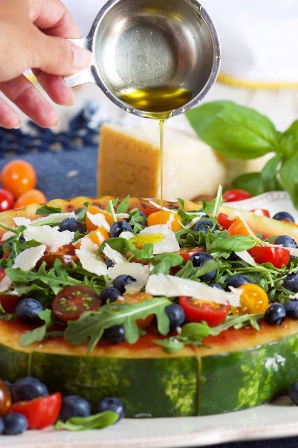
M 35 352 L 31 375 L 51 392 L 78 394 L 93 409 L 105 397 L 117 396 L 126 416 L 175 417 L 197 414 L 196 357 L 123 359 L 51 355 Z

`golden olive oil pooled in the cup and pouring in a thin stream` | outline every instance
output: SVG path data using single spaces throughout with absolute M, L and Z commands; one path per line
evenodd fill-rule
M 162 233 L 163 206 L 163 128 L 167 118 L 190 101 L 192 93 L 183 87 L 161 86 L 147 89 L 129 89 L 119 92 L 118 98 L 127 105 L 147 112 L 145 116 L 159 121 L 160 144 L 160 232 Z

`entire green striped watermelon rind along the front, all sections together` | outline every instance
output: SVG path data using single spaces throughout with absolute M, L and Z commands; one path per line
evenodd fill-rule
M 287 393 L 298 379 L 298 334 L 202 358 L 26 354 L 0 345 L 0 377 L 14 381 L 27 375 L 40 378 L 50 392 L 83 396 L 93 409 L 101 399 L 117 396 L 127 417 L 218 414 Z

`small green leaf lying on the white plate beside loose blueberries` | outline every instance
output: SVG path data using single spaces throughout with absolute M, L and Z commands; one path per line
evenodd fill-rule
M 119 415 L 113 411 L 104 411 L 88 417 L 71 417 L 66 422 L 58 420 L 55 429 L 67 429 L 69 431 L 83 431 L 90 429 L 101 429 L 114 425 L 119 419 Z

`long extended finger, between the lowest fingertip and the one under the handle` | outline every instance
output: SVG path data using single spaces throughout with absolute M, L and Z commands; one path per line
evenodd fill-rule
M 55 127 L 59 120 L 55 109 L 23 75 L 0 83 L 2 93 L 41 127 Z

